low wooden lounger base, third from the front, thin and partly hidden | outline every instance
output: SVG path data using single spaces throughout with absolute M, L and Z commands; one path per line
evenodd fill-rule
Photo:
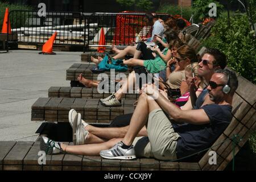
M 85 88 L 85 87 L 69 87 L 69 86 L 51 86 L 48 89 L 48 97 L 59 98 L 106 98 L 110 96 L 109 90 L 105 93 L 98 93 L 97 88 Z M 137 100 L 139 94 L 126 93 L 123 96 L 125 100 Z

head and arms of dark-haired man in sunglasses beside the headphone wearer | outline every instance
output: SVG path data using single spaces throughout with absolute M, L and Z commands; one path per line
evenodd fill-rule
M 226 67 L 226 56 L 218 49 L 208 48 L 204 53 L 201 61 L 199 62 L 198 75 L 203 77 L 205 84 L 209 84 L 210 78 L 217 69 L 224 69 Z M 209 98 L 208 89 L 205 87 L 203 92 L 196 98 L 197 88 L 195 85 L 190 86 L 188 102 L 181 107 L 182 110 L 199 109 L 202 105 L 212 104 Z

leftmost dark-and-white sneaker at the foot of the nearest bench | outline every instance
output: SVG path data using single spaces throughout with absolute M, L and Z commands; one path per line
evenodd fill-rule
M 63 152 L 59 142 L 55 142 L 47 137 L 40 139 L 40 149 L 46 154 L 60 154 Z

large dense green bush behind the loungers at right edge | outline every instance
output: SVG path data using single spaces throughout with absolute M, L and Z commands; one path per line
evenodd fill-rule
M 247 80 L 256 84 L 256 40 L 250 31 L 246 14 L 230 14 L 228 27 L 227 13 L 221 14 L 203 44 L 220 49 L 228 57 L 228 66 Z

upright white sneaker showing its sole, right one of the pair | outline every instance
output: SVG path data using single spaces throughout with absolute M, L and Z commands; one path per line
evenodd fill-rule
M 73 143 L 74 145 L 85 144 L 85 139 L 88 136 L 88 131 L 84 129 L 82 124 L 81 114 L 77 114 L 77 119 L 73 123 Z

